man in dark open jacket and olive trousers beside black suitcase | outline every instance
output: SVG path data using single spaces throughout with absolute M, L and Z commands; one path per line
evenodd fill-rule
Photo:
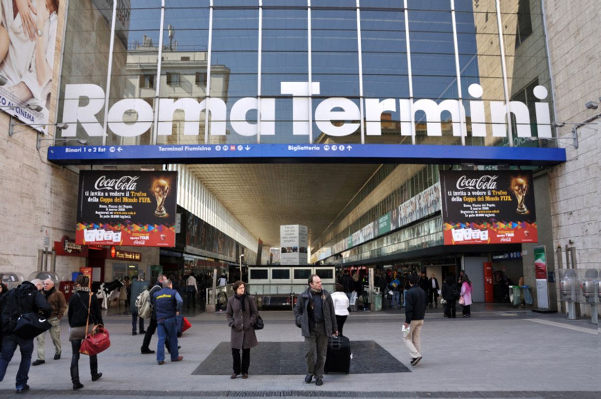
M 296 301 L 294 323 L 301 328 L 301 335 L 305 337 L 305 382 L 310 383 L 315 377 L 315 385 L 323 385 L 328 337 L 338 335 L 338 324 L 332 296 L 322 288 L 322 279 L 317 274 L 311 274 L 308 283 L 309 287 Z

